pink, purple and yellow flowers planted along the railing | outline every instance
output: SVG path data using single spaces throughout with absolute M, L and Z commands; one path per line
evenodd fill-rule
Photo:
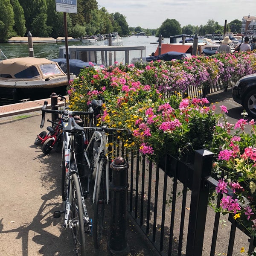
M 180 155 L 208 148 L 218 159 L 214 175 L 216 192 L 229 187 L 236 195 L 224 197 L 223 213 L 232 212 L 236 221 L 255 235 L 256 228 L 256 133 L 254 120 L 240 119 L 235 125 L 220 122 L 221 115 L 206 98 L 183 99 L 189 86 L 214 85 L 218 79 L 256 72 L 256 51 L 192 56 L 181 61 L 118 65 L 103 70 L 86 68 L 70 81 L 70 108 L 84 111 L 92 99 L 105 99 L 99 123 L 128 128 L 133 136 L 125 148 L 139 148 L 156 162 L 163 153 Z M 252 125 L 252 134 L 244 133 Z M 235 131 L 235 135 L 232 132 Z

